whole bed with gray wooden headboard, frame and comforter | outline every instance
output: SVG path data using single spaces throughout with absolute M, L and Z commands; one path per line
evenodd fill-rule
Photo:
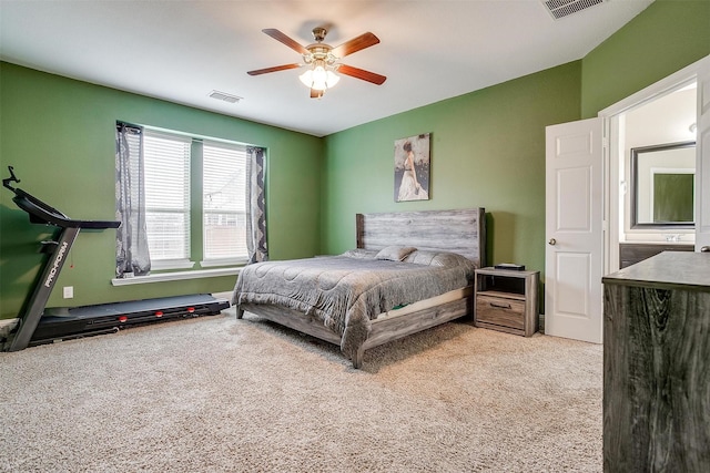
M 481 207 L 356 215 L 356 248 L 242 269 L 232 304 L 338 345 L 354 368 L 388 341 L 473 315 Z

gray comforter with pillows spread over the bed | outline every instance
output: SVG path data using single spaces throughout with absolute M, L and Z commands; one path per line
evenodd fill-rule
M 232 302 L 277 305 L 316 317 L 351 353 L 379 313 L 469 286 L 474 269 L 460 255 L 405 247 L 265 261 L 242 269 Z

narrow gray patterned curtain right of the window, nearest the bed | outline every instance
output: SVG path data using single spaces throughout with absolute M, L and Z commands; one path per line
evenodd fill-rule
M 264 154 L 263 147 L 246 148 L 246 249 L 250 264 L 268 259 Z

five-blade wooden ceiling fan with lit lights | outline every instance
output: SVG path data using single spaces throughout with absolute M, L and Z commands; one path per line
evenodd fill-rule
M 300 53 L 303 56 L 303 63 L 283 64 L 275 65 L 273 68 L 257 69 L 255 71 L 248 71 L 248 75 L 260 75 L 266 74 L 268 72 L 285 71 L 288 69 L 297 69 L 304 65 L 310 65 L 311 68 L 306 72 L 301 74 L 298 79 L 301 79 L 301 82 L 303 82 L 307 88 L 311 89 L 312 99 L 322 97 L 326 89 L 332 88 L 337 83 L 337 81 L 339 81 L 341 78 L 335 74 L 335 71 L 339 72 L 341 74 L 372 82 L 373 84 L 377 85 L 382 85 L 382 83 L 387 80 L 387 78 L 384 75 L 379 75 L 374 72 L 365 71 L 364 69 L 353 68 L 352 65 L 341 64 L 337 62 L 348 54 L 377 44 L 379 42 L 379 39 L 371 32 L 363 33 L 357 38 L 344 42 L 339 47 L 333 48 L 323 42 L 325 40 L 325 35 L 327 34 L 327 30 L 322 27 L 316 27 L 313 29 L 313 38 L 316 42 L 307 47 L 301 45 L 298 42 L 288 38 L 286 34 L 276 29 L 267 28 L 262 31 L 276 41 L 281 41 L 288 48 Z

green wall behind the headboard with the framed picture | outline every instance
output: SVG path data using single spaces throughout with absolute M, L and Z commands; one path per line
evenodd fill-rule
M 545 126 L 579 120 L 579 61 L 326 137 L 322 241 L 355 246 L 355 214 L 485 207 L 488 264 L 545 265 Z M 430 199 L 394 202 L 394 141 L 432 132 Z

